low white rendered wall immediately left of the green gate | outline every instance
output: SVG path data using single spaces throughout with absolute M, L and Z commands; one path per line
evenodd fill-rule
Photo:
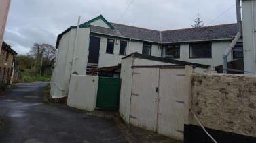
M 67 105 L 94 111 L 98 90 L 98 76 L 71 75 Z

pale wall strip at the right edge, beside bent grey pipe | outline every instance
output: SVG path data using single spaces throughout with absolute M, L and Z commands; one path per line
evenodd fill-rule
M 242 31 L 244 39 L 244 70 L 245 74 L 256 74 L 255 61 L 255 26 L 256 1 L 242 1 Z

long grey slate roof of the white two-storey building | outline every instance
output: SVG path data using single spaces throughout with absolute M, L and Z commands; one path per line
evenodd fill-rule
M 123 24 L 111 23 L 114 29 L 91 26 L 92 33 L 121 36 L 134 40 L 157 43 L 196 42 L 204 40 L 231 40 L 236 36 L 237 24 L 205 26 L 180 30 L 157 31 Z

